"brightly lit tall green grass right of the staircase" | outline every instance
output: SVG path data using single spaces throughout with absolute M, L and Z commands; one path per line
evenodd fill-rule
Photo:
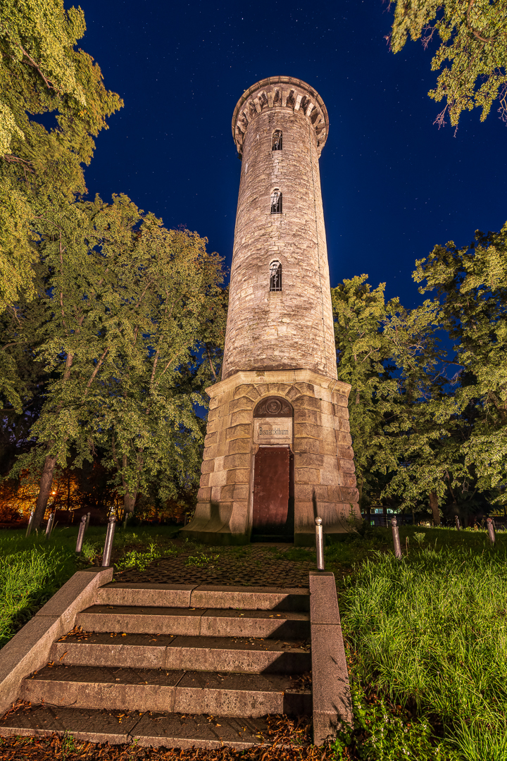
M 505 549 L 375 552 L 341 596 L 363 682 L 439 717 L 471 761 L 505 761 Z

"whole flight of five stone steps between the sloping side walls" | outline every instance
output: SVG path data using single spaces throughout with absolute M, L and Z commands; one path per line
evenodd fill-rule
M 309 590 L 109 583 L 21 683 L 1 735 L 246 748 L 311 716 Z

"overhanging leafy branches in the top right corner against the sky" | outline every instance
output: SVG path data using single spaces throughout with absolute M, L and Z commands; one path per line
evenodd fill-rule
M 506 0 L 395 0 L 389 37 L 393 53 L 409 35 L 421 39 L 425 48 L 439 37 L 431 68 L 442 71 L 428 93 L 437 102 L 445 101 L 436 123 L 444 124 L 448 114 L 457 126 L 461 112 L 475 107 L 482 109 L 483 121 L 495 100 L 507 122 L 506 24 Z

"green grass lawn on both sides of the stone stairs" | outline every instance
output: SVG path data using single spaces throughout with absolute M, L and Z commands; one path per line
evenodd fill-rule
M 56 527 L 49 541 L 0 531 L 0 644 L 76 570 L 99 562 L 106 528 L 90 527 L 81 559 L 74 556 L 77 531 Z M 118 527 L 116 567 L 143 569 L 183 549 L 209 552 L 175 542 L 174 533 Z M 352 533 L 326 547 L 355 726 L 325 757 L 507 761 L 507 533 L 497 533 L 494 548 L 484 530 L 401 527 L 400 535 L 398 561 L 390 529 Z M 303 548 L 273 550 L 287 562 L 312 557 Z M 248 547 L 220 552 L 243 553 L 248 562 Z

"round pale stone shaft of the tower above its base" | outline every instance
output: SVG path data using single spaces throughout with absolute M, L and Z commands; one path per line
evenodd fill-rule
M 242 170 L 222 377 L 307 368 L 336 378 L 318 170 L 327 130 L 324 104 L 317 107 L 315 92 L 304 83 L 255 88 L 236 115 L 236 126 L 244 130 L 238 145 Z M 275 129 L 283 132 L 281 151 L 271 150 Z M 271 214 L 274 188 L 282 193 L 281 214 Z M 282 265 L 280 292 L 269 291 L 275 259 Z

